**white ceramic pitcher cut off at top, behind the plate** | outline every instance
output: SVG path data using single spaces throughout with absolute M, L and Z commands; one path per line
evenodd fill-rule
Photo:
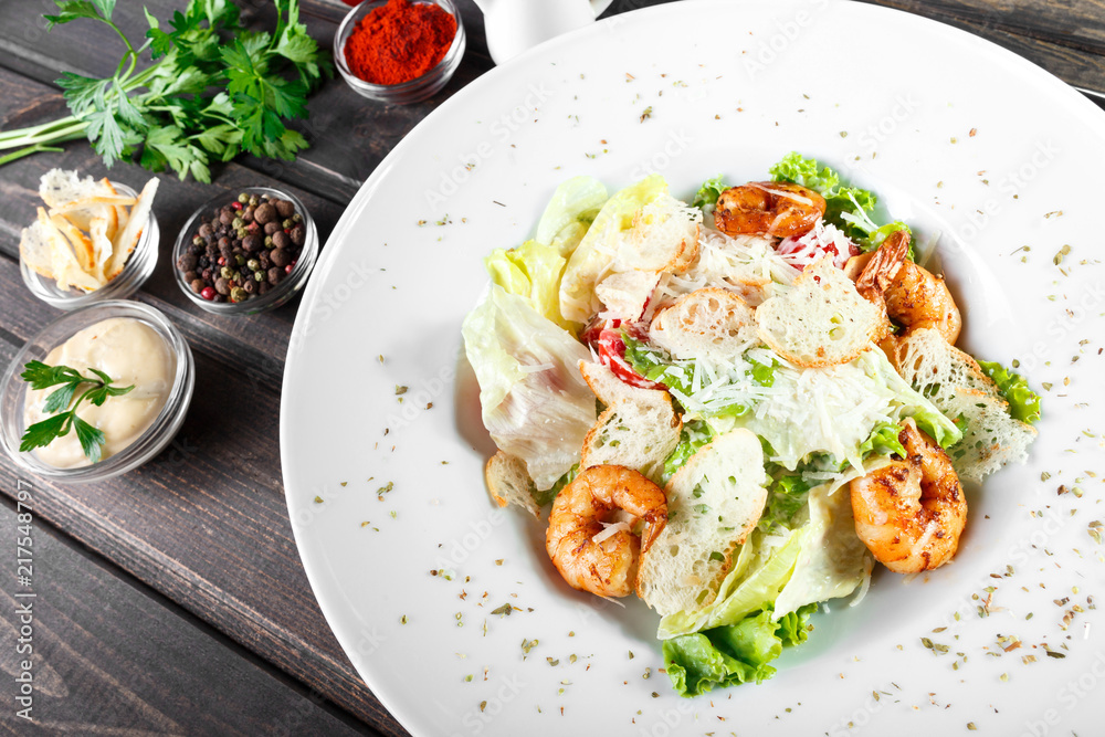
M 475 0 L 496 64 L 555 35 L 593 23 L 613 0 Z

